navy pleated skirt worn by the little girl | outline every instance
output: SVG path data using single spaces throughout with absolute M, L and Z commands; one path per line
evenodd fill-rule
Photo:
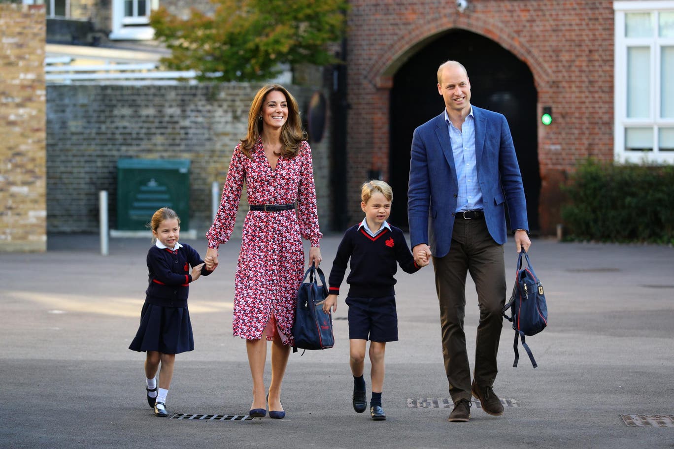
M 138 332 L 129 349 L 164 354 L 193 351 L 194 337 L 187 307 L 164 307 L 145 302 Z

